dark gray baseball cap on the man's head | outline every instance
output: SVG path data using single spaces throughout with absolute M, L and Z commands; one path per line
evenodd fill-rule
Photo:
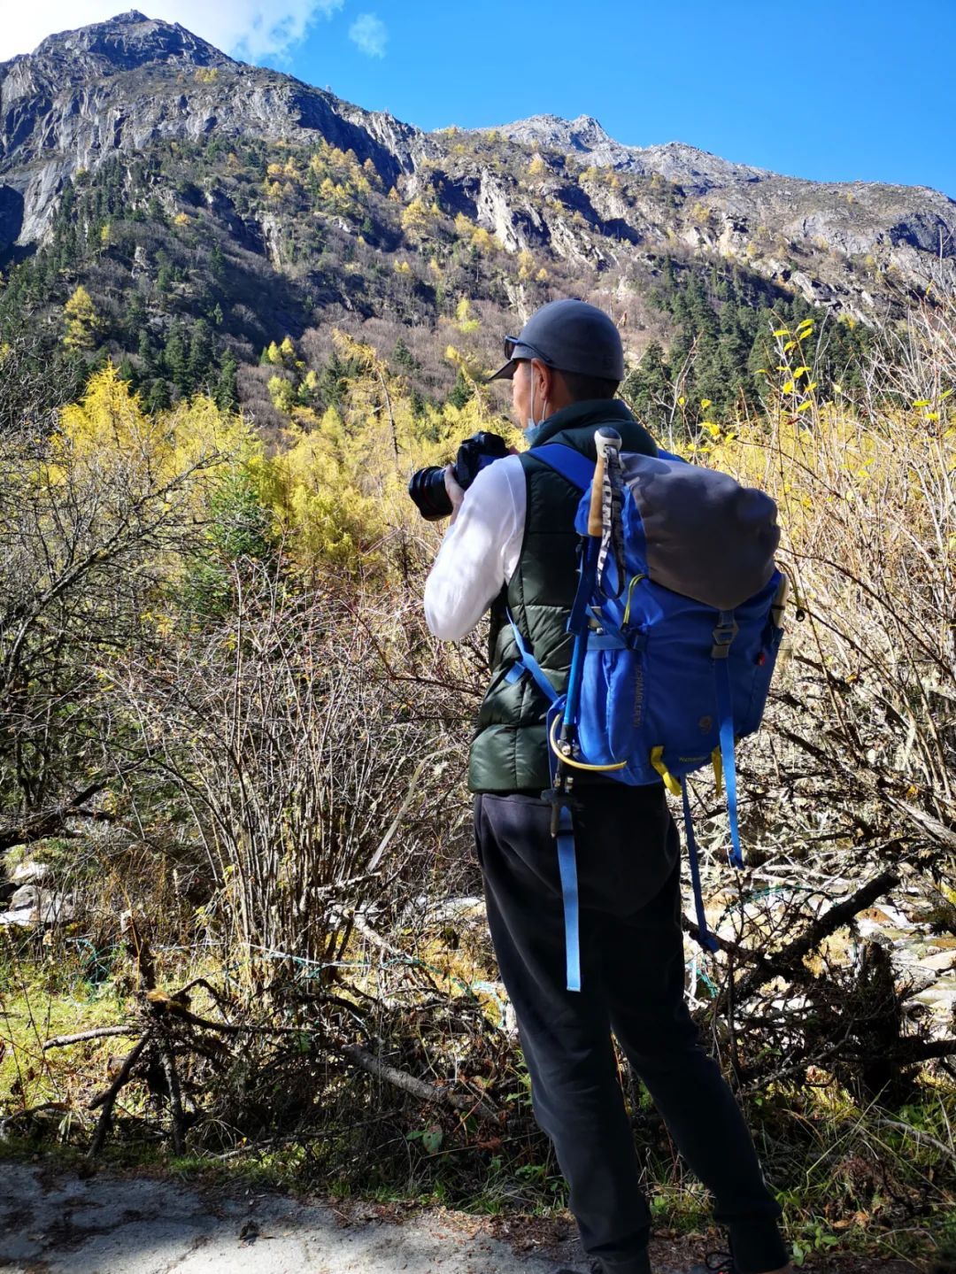
M 550 301 L 541 306 L 518 336 L 504 338 L 508 362 L 491 381 L 510 380 L 521 359 L 540 358 L 559 372 L 578 372 L 605 381 L 624 380 L 624 350 L 614 322 L 586 301 Z

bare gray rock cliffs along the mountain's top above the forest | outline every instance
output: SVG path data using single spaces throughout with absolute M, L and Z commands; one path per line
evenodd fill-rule
M 370 159 L 404 200 L 428 192 L 509 252 L 570 266 L 723 260 L 863 318 L 939 271 L 956 282 L 956 203 L 927 187 L 806 181 L 677 141 L 621 145 L 589 116 L 424 134 L 136 10 L 0 64 L 0 261 L 43 242 L 78 169 L 211 135 L 322 138 Z M 237 227 L 269 240 L 265 224 Z

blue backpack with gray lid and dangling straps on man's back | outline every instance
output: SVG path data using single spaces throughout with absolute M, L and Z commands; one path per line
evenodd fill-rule
M 760 725 L 787 594 L 774 566 L 779 529 L 768 496 L 664 451 L 620 454 L 614 429 L 598 429 L 596 441 L 597 469 L 560 443 L 530 452 L 583 492 L 568 689 L 555 693 L 513 619 L 519 657 L 507 674 L 532 676 L 550 701 L 551 831 L 572 991 L 580 990 L 575 773 L 630 785 L 663 781 L 681 798 L 699 941 L 717 949 L 704 916 L 686 776 L 713 764 L 727 790 L 729 859 L 742 868 L 735 741 Z

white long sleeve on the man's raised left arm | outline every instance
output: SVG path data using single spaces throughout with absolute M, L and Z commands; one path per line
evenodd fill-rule
M 425 582 L 425 622 L 460 641 L 508 583 L 524 539 L 527 489 L 518 456 L 488 465 L 465 492 Z

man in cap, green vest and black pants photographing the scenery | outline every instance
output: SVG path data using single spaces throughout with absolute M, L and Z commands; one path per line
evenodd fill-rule
M 530 443 L 560 442 L 593 460 L 594 429 L 611 424 L 624 451 L 657 454 L 614 397 L 624 354 L 602 311 L 554 301 L 508 339 L 505 350 L 508 362 L 491 380 L 512 380 L 514 415 Z M 449 465 L 446 488 L 452 522 L 425 585 L 425 614 L 437 637 L 457 641 L 491 606 L 491 682 L 468 772 L 476 848 L 535 1115 L 568 1180 L 592 1268 L 650 1274 L 650 1213 L 617 1082 L 614 1032 L 729 1231 L 732 1255 L 710 1269 L 789 1274 L 777 1226 L 780 1208 L 684 1003 L 680 846 L 663 785 L 575 782 L 582 990 L 565 987 L 558 855 L 551 805 L 542 799 L 551 784 L 547 702 L 532 678 L 507 676 L 518 657 L 508 614 L 563 692 L 580 493 L 527 454 L 489 465 L 467 492 Z

